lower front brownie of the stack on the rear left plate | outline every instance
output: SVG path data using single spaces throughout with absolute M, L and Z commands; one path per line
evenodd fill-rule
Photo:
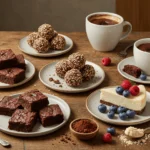
M 6 68 L 0 70 L 0 82 L 7 84 L 18 83 L 25 78 L 25 70 L 21 68 Z

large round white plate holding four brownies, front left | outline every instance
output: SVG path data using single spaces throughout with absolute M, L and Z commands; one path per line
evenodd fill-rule
M 52 125 L 49 127 L 43 127 L 40 122 L 37 122 L 34 126 L 32 132 L 17 132 L 15 130 L 8 129 L 9 116 L 0 115 L 0 130 L 4 133 L 19 136 L 19 137 L 35 137 L 46 135 L 52 133 L 59 128 L 61 128 L 68 121 L 70 117 L 70 107 L 69 105 L 61 98 L 44 93 L 49 100 L 49 104 L 58 104 L 64 114 L 64 121 L 61 124 Z M 13 95 L 14 97 L 19 96 L 19 94 Z

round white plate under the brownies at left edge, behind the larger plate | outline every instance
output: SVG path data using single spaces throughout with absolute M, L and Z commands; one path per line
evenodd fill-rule
M 31 80 L 33 78 L 33 76 L 35 74 L 34 65 L 26 59 L 25 59 L 25 63 L 26 63 L 25 79 L 22 80 L 21 82 L 18 82 L 16 84 L 12 84 L 12 85 L 0 82 L 0 89 L 16 87 L 16 86 L 19 86 L 19 85 L 22 85 L 22 84 L 28 82 L 29 80 Z

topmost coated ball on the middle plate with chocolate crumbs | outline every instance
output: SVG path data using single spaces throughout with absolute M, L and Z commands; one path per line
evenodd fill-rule
M 80 53 L 73 53 L 68 58 L 71 68 L 82 69 L 85 65 L 85 57 Z

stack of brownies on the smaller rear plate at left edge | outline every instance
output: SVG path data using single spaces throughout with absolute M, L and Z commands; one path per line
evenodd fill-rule
M 24 80 L 25 69 L 22 54 L 15 55 L 11 49 L 0 50 L 0 82 L 15 84 Z

